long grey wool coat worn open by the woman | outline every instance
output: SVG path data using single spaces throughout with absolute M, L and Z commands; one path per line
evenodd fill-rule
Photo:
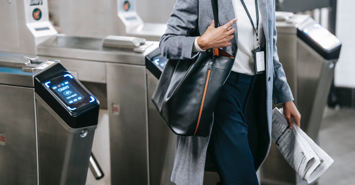
M 279 62 L 276 49 L 275 1 L 258 0 L 266 45 L 266 103 L 264 102 L 265 122 L 258 146 L 257 166 L 266 158 L 271 144 L 272 101 L 274 104 L 293 101 L 293 96 L 285 72 Z M 235 18 L 232 0 L 218 0 L 219 25 Z M 160 38 L 160 50 L 168 59 L 191 59 L 198 54 L 192 52 L 197 36 L 202 35 L 213 20 L 211 0 L 178 0 L 167 22 L 168 28 Z M 238 48 L 237 26 L 231 46 L 222 48 L 235 56 Z M 211 124 L 212 129 L 212 124 Z M 210 131 L 211 132 L 211 131 Z M 209 136 L 178 136 L 174 168 L 171 181 L 177 185 L 202 185 Z M 235 154 L 238 157 L 238 154 Z

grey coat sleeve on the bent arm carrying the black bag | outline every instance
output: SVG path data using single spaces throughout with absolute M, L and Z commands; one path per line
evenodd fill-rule
M 168 20 L 167 29 L 160 38 L 159 48 L 168 59 L 186 60 L 197 55 L 192 52 L 195 38 L 191 33 L 197 29 L 198 0 L 178 0 Z

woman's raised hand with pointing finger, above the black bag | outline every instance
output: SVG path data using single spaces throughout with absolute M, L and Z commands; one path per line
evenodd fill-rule
M 231 26 L 237 20 L 238 19 L 232 19 L 218 28 L 214 28 L 214 21 L 212 21 L 206 32 L 197 39 L 197 45 L 203 50 L 230 46 L 230 40 L 234 38 L 233 33 L 235 32 L 235 29 Z

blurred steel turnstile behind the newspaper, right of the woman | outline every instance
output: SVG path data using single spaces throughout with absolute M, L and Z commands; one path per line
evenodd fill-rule
M 341 44 L 309 16 L 276 12 L 276 17 L 278 55 L 302 115 L 301 128 L 316 141 Z M 262 184 L 307 184 L 274 143 L 261 174 Z

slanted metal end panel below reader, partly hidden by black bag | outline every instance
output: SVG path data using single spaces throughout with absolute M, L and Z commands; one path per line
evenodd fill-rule
M 174 185 L 170 181 L 170 175 L 174 166 L 176 135 L 165 124 L 151 100 L 158 79 L 146 71 L 150 184 Z

